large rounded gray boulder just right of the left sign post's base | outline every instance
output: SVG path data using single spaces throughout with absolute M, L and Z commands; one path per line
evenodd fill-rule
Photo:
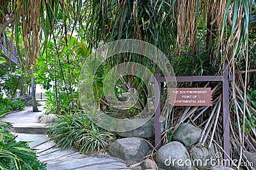
M 156 163 L 157 166 L 167 170 L 195 169 L 185 146 L 177 141 L 172 141 L 159 148 L 156 152 Z

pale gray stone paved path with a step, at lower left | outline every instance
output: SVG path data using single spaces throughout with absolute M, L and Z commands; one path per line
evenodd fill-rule
M 43 108 L 44 106 L 40 106 L 38 109 L 43 110 Z M 35 153 L 41 162 L 47 163 L 47 169 L 128 169 L 123 160 L 111 157 L 106 152 L 84 155 L 77 152 L 74 148 L 67 150 L 54 148 L 55 143 L 44 134 L 45 128 L 47 128 L 46 125 L 38 122 L 38 118 L 44 114 L 44 111 L 33 113 L 31 110 L 32 107 L 27 106 L 24 111 L 9 113 L 5 118 L 1 118 L 1 120 L 13 124 L 11 131 L 18 136 L 17 141 L 31 141 L 29 146 L 36 149 Z

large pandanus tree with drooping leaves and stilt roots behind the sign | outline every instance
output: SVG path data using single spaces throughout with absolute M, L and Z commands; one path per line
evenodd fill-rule
M 90 48 L 118 39 L 141 39 L 168 55 L 175 73 L 182 76 L 221 74 L 223 64 L 228 63 L 231 74 L 237 78 L 230 89 L 232 138 L 236 139 L 232 148 L 255 152 L 255 1 L 86 1 L 83 6 L 86 15 L 81 18 L 86 22 L 79 28 Z M 150 60 L 131 54 L 112 57 L 108 66 L 130 60 L 154 72 Z M 126 81 L 132 79 L 128 77 Z M 134 83 L 134 87 L 139 85 Z M 220 99 L 220 90 L 214 96 Z M 214 107 L 218 104 L 215 101 Z M 212 139 L 221 142 L 221 136 L 216 135 L 216 129 L 221 131 L 221 125 L 216 124 L 221 120 L 217 114 L 220 108 L 205 112 L 206 117 L 195 111 L 202 108 L 165 108 L 168 106 L 164 105 L 163 111 L 168 112 L 171 126 L 189 118 L 205 129 L 202 145 L 209 134 L 210 144 Z M 214 124 L 217 127 L 211 131 Z

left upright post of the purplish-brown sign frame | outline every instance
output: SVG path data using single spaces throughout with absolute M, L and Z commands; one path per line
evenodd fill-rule
M 161 103 L 160 103 L 160 93 L 161 93 L 161 86 L 160 86 L 160 76 L 159 69 L 156 70 L 155 73 L 155 147 L 158 150 L 161 147 L 161 124 L 159 122 L 159 118 L 161 115 Z

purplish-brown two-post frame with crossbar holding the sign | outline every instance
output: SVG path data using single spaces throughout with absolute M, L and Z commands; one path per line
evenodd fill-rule
M 161 115 L 160 109 L 160 92 L 161 92 L 161 82 L 174 82 L 174 81 L 222 81 L 222 101 L 223 101 L 223 159 L 228 159 L 230 156 L 230 115 L 229 115 L 229 87 L 228 82 L 233 81 L 233 77 L 229 75 L 228 64 L 223 66 L 222 76 L 171 76 L 171 77 L 161 77 L 159 71 L 155 73 L 155 146 L 156 149 L 161 146 L 161 126 L 159 122 L 159 117 Z M 154 79 L 152 79 L 154 80 Z M 184 106 L 184 105 L 183 105 Z

